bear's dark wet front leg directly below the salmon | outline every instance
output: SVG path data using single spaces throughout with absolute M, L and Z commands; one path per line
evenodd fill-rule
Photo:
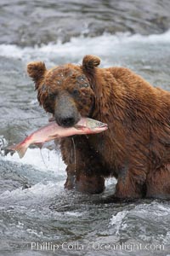
M 64 138 L 60 144 L 65 161 L 67 179 L 65 189 L 76 189 L 82 193 L 99 194 L 105 189 L 105 178 L 98 172 L 99 158 L 89 147 L 85 136 Z

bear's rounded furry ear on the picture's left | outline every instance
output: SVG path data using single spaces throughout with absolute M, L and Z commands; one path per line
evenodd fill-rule
M 43 79 L 45 72 L 47 71 L 45 64 L 42 61 L 30 62 L 27 65 L 27 73 L 33 79 L 36 84 L 36 89 L 38 84 Z

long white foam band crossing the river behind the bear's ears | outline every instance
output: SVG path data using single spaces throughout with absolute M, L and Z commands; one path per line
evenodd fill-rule
M 60 42 L 54 44 L 50 43 L 42 45 L 41 47 L 35 46 L 20 48 L 13 44 L 0 44 L 0 55 L 5 57 L 13 57 L 16 59 L 22 59 L 23 61 L 33 61 L 41 59 L 43 61 L 51 62 L 54 60 L 54 56 L 59 61 L 65 63 L 65 60 L 69 59 L 76 62 L 82 61 L 82 56 L 87 54 L 100 55 L 101 57 L 116 53 L 117 50 L 127 44 L 159 44 L 170 43 L 170 30 L 162 34 L 152 34 L 149 36 L 142 36 L 140 34 L 117 33 L 111 35 L 105 33 L 95 38 L 71 38 L 70 42 L 61 44 Z M 77 56 L 79 58 L 77 58 Z M 81 57 L 81 58 L 80 58 Z M 66 58 L 66 59 L 65 59 Z M 105 64 L 105 63 L 103 63 Z

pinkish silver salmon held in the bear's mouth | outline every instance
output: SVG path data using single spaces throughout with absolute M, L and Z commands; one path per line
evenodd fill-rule
M 107 124 L 88 118 L 81 118 L 77 125 L 69 128 L 59 126 L 55 121 L 51 121 L 48 125 L 32 132 L 21 143 L 10 146 L 8 149 L 17 151 L 20 158 L 22 158 L 31 144 L 46 143 L 61 137 L 70 137 L 78 134 L 99 133 L 107 129 Z

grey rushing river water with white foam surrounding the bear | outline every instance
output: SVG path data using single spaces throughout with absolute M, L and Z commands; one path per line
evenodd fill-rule
M 1 0 L 0 255 L 170 255 L 168 201 L 104 203 L 114 178 L 102 195 L 65 191 L 53 143 L 22 160 L 3 151 L 48 122 L 29 61 L 53 67 L 99 55 L 101 67 L 129 67 L 170 90 L 170 3 L 150 2 Z

